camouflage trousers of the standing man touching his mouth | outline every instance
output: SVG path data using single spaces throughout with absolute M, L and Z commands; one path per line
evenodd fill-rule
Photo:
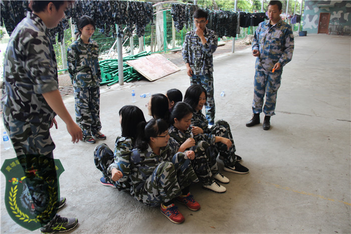
M 216 113 L 216 106 L 215 106 L 215 97 L 214 97 L 214 87 L 213 87 L 213 74 L 212 72 L 206 75 L 194 75 L 190 77 L 190 85 L 193 84 L 200 84 L 203 86 L 207 92 L 207 99 L 206 99 L 206 119 L 210 125 L 215 123 L 215 113 Z

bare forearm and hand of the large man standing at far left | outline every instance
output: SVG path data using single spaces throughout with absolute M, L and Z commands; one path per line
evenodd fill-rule
M 60 91 L 56 89 L 54 91 L 43 93 L 42 95 L 46 102 L 48 102 L 49 106 L 60 116 L 63 122 L 65 122 L 67 131 L 72 136 L 72 142 L 76 143 L 79 142 L 79 140 L 83 140 L 82 130 L 73 121 L 71 115 L 67 111 Z

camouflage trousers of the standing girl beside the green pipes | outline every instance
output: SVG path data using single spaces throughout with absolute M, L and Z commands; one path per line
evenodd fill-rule
M 100 87 L 75 88 L 76 122 L 83 136 L 91 136 L 101 130 Z

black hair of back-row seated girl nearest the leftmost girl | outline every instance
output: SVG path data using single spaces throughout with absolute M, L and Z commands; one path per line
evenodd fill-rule
M 151 115 L 154 119 L 169 122 L 168 98 L 161 93 L 151 95 Z

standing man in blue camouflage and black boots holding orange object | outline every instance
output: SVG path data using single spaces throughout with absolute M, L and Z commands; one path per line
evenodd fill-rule
M 262 127 L 264 130 L 269 130 L 270 118 L 275 114 L 274 109 L 283 66 L 292 58 L 294 36 L 290 25 L 281 20 L 281 12 L 282 4 L 280 1 L 269 2 L 269 21 L 258 25 L 252 42 L 252 55 L 257 57 L 252 103 L 254 114 L 253 118 L 246 123 L 247 127 L 260 123 L 260 113 L 266 93 L 266 102 L 263 107 L 265 118 Z

